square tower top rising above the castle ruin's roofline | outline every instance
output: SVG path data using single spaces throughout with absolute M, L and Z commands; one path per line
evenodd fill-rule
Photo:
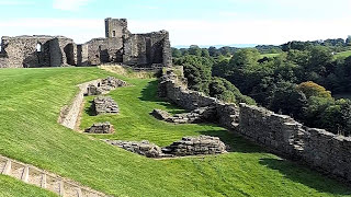
M 128 22 L 126 19 L 105 19 L 105 36 L 106 38 L 123 38 L 128 34 Z

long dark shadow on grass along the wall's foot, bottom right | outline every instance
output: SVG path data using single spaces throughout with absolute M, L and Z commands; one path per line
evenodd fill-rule
M 260 164 L 272 170 L 278 170 L 286 178 L 306 185 L 320 193 L 332 195 L 351 195 L 351 189 L 342 183 L 338 183 L 325 175 L 312 171 L 305 166 L 279 159 L 261 159 Z

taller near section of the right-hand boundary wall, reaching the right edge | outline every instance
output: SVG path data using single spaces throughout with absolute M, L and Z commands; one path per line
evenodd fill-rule
M 290 116 L 240 104 L 236 129 L 273 152 L 351 182 L 351 138 L 304 127 Z

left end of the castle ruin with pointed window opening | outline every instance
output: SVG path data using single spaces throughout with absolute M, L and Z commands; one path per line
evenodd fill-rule
M 4 57 L 0 62 L 5 68 L 58 67 L 77 61 L 73 40 L 66 37 L 2 37 L 1 43 Z

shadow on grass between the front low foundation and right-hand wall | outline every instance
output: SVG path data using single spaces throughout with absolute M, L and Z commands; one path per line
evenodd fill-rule
M 225 144 L 229 146 L 228 152 L 241 152 L 241 153 L 265 153 L 263 148 L 246 140 L 237 134 L 229 132 L 226 129 L 223 130 L 207 130 L 200 131 L 201 135 L 218 137 Z

